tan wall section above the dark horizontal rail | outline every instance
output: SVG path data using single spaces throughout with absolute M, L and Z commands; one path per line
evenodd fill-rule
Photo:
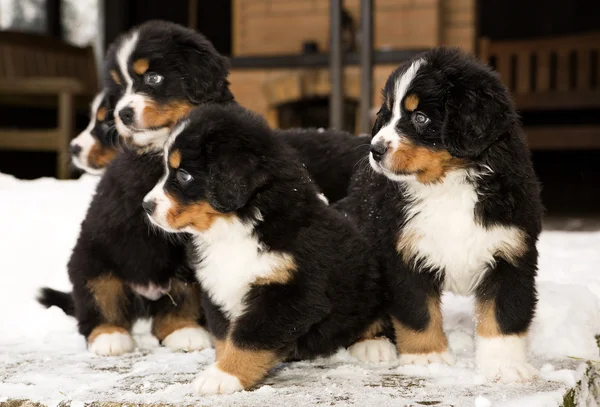
M 360 0 L 344 6 L 359 21 Z M 475 44 L 475 0 L 374 0 L 375 49 Z M 329 0 L 233 0 L 233 55 L 295 54 L 305 41 L 326 51 Z

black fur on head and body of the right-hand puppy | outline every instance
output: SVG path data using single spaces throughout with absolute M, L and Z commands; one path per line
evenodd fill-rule
M 543 210 L 540 186 L 510 95 L 497 74 L 474 58 L 455 49 L 434 49 L 389 77 L 373 136 L 390 122 L 393 105 L 403 103 L 394 94 L 396 83 L 419 59 L 425 63 L 405 94 L 418 95 L 417 110 L 410 112 L 403 106 L 394 131 L 412 145 L 447 151 L 462 159 L 471 174 L 466 182 L 477 193 L 473 216 L 480 225 L 513 226 L 524 232 L 525 251 L 514 263 L 497 256 L 473 292 L 479 300 L 495 301 L 502 334 L 524 333 L 536 305 L 536 241 Z M 425 125 L 416 123 L 418 113 L 430 121 Z M 373 255 L 381 262 L 390 314 L 421 331 L 430 318 L 427 298 L 440 295 L 445 273 L 441 266 L 432 269 L 422 262 L 405 261 L 396 249 L 399 232 L 411 220 L 407 210 L 413 205 L 405 181 L 393 181 L 372 168 L 364 168 L 355 174 L 349 196 L 335 207 L 355 219 Z M 464 247 L 464 252 L 469 250 Z

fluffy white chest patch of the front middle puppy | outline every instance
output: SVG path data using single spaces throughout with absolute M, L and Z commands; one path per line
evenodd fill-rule
M 252 230 L 253 225 L 238 219 L 218 219 L 206 232 L 194 236 L 202 259 L 196 276 L 230 319 L 243 314 L 253 282 L 268 278 L 282 262 L 289 261 L 288 255 L 261 251 Z

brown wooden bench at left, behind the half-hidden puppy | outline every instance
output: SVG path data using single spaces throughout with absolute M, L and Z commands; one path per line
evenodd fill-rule
M 91 46 L 80 48 L 55 38 L 0 32 L 0 103 L 57 112 L 56 125 L 47 129 L 0 129 L 0 149 L 54 151 L 58 178 L 68 178 L 75 109 L 87 108 L 97 90 Z

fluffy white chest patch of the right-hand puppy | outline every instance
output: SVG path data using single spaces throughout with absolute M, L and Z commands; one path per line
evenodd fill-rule
M 477 193 L 463 170 L 441 184 L 406 181 L 414 199 L 397 249 L 421 268 L 443 272 L 444 289 L 468 295 L 481 282 L 494 256 L 513 261 L 524 250 L 524 233 L 512 226 L 483 227 L 475 221 Z

